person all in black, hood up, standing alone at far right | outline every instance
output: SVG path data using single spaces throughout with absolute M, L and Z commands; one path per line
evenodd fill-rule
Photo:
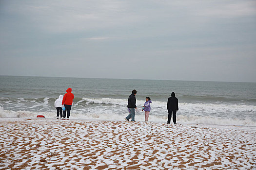
M 167 110 L 168 110 L 168 120 L 167 124 L 170 124 L 172 114 L 173 114 L 173 122 L 176 124 L 176 112 L 178 110 L 178 99 L 175 97 L 175 93 L 172 92 L 172 97 L 168 98 L 167 102 Z

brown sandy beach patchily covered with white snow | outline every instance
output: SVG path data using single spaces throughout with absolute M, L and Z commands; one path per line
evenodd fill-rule
M 254 169 L 255 128 L 0 120 L 0 169 Z

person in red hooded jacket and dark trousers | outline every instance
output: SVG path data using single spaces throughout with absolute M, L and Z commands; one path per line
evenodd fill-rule
M 71 106 L 72 106 L 73 99 L 74 99 L 74 94 L 71 93 L 71 91 L 72 91 L 72 88 L 68 88 L 66 90 L 67 93 L 64 95 L 63 100 L 62 100 L 62 105 L 64 104 L 64 106 L 65 106 L 65 110 L 63 111 L 62 119 L 66 119 L 66 111 L 68 111 L 67 119 L 69 119 L 69 116 L 70 116 L 70 110 L 71 110 Z

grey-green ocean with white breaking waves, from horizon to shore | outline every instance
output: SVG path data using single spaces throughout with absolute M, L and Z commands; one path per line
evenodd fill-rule
M 56 118 L 55 100 L 68 87 L 75 95 L 71 119 L 124 120 L 137 90 L 136 120 L 152 100 L 149 121 L 165 122 L 167 99 L 179 101 L 177 123 L 256 126 L 256 83 L 0 76 L 0 117 Z

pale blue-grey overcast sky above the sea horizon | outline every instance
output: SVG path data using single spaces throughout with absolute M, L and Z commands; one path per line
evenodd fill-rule
M 256 0 L 0 0 L 0 75 L 256 82 Z

